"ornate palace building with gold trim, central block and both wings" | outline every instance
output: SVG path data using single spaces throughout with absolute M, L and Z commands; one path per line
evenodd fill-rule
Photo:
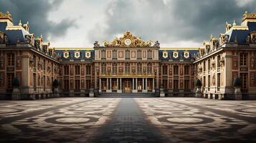
M 198 48 L 165 48 L 126 31 L 92 48 L 49 47 L 35 38 L 29 24 L 14 26 L 11 14 L 0 13 L 0 98 L 85 97 L 107 93 L 147 93 L 165 97 L 234 99 L 233 81 L 242 79 L 242 99 L 256 98 L 256 14 L 242 24 L 226 24 L 219 38 Z M 19 87 L 12 83 L 19 81 Z M 54 80 L 59 86 L 54 89 Z M 57 88 L 57 90 L 56 90 Z

